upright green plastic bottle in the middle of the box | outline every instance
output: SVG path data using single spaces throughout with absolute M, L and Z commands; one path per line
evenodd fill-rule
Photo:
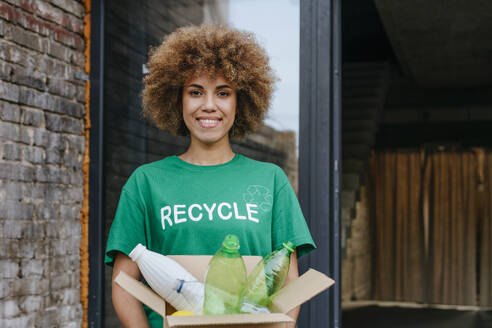
M 239 239 L 227 235 L 210 261 L 205 276 L 204 314 L 239 313 L 246 285 L 246 266 L 239 253 Z

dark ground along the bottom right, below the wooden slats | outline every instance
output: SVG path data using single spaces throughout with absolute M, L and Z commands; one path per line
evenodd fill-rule
M 366 305 L 344 309 L 343 328 L 492 328 L 492 311 Z

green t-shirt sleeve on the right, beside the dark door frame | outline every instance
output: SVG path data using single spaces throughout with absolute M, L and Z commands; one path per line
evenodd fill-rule
M 297 257 L 301 257 L 316 248 L 299 201 L 287 176 L 278 169 L 277 183 L 273 203 L 273 249 L 282 247 L 285 241 L 296 245 Z

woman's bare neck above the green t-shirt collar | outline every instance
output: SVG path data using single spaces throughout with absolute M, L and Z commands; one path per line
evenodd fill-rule
M 219 165 L 229 162 L 234 156 L 235 154 L 229 143 L 207 146 L 198 145 L 192 140 L 188 150 L 178 157 L 194 165 Z

